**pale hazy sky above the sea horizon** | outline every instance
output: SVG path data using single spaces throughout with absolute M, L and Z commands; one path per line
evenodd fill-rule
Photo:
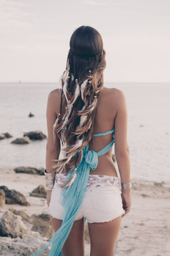
M 169 0 L 0 0 L 0 82 L 56 82 L 81 25 L 101 33 L 105 82 L 170 82 Z

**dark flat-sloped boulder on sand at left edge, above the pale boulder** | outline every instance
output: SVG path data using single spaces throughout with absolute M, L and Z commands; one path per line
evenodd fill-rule
M 12 189 L 8 189 L 6 186 L 0 186 L 0 189 L 2 189 L 5 192 L 5 203 L 7 204 L 13 204 L 18 203 L 19 205 L 30 205 L 29 202 L 27 202 L 27 199 L 22 195 L 20 192 Z

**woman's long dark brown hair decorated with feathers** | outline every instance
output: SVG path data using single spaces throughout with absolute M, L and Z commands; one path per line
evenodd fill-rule
M 79 27 L 71 35 L 69 46 L 66 69 L 61 76 L 61 113 L 53 126 L 54 139 L 61 139 L 66 157 L 54 160 L 52 168 L 56 172 L 61 172 L 65 165 L 77 167 L 83 148 L 92 139 L 106 66 L 103 40 L 96 29 Z

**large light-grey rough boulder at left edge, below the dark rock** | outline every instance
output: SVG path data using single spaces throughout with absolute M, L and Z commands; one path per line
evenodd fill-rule
M 28 236 L 29 233 L 29 230 L 21 220 L 21 216 L 16 216 L 9 210 L 4 212 L 0 222 L 0 236 L 24 238 Z

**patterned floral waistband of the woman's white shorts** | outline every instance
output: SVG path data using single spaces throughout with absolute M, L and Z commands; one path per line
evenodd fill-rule
M 67 173 L 59 173 L 56 174 L 55 185 L 63 184 L 65 182 L 65 178 Z M 118 177 L 109 176 L 109 175 L 97 175 L 97 174 L 89 174 L 87 187 L 98 187 L 98 186 L 119 186 Z

